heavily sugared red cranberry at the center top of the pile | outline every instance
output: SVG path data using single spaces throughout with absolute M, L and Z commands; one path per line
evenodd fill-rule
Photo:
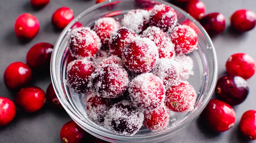
M 149 38 L 135 38 L 122 51 L 122 60 L 132 72 L 149 72 L 158 60 L 158 48 Z

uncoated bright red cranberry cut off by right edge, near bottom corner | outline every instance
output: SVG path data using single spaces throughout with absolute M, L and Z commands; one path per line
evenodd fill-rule
M 256 111 L 246 111 L 240 120 L 240 132 L 249 140 L 256 139 Z

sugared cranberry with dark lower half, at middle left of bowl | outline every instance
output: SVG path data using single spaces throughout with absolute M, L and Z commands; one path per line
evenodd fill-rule
M 88 90 L 90 76 L 95 70 L 95 65 L 87 59 L 74 60 L 67 67 L 67 85 L 76 93 Z

